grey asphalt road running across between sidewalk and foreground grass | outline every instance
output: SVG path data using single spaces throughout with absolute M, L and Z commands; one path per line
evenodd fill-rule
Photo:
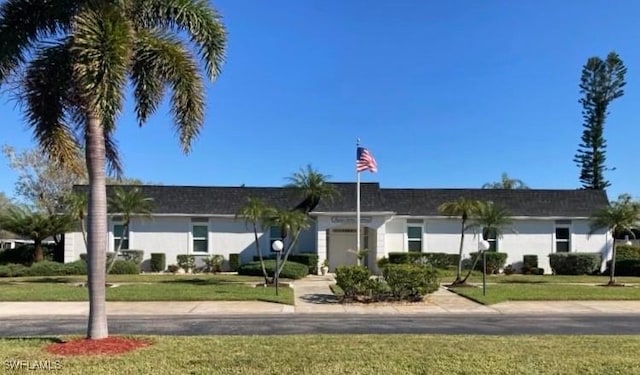
M 640 334 L 638 315 L 307 315 L 112 316 L 111 334 Z M 0 336 L 84 334 L 84 317 L 22 317 L 0 320 Z

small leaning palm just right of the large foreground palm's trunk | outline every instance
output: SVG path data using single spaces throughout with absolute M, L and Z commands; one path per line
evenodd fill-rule
M 111 262 L 107 266 L 107 274 L 111 271 L 118 257 L 118 253 L 122 250 L 124 234 L 129 233 L 131 218 L 133 216 L 151 217 L 151 213 L 153 212 L 153 198 L 145 196 L 139 187 L 123 188 L 122 186 L 117 186 L 113 189 L 113 195 L 109 197 L 108 205 L 111 214 L 118 215 L 122 218 L 123 235 L 120 236 L 115 254 L 113 254 L 113 258 L 111 258 Z

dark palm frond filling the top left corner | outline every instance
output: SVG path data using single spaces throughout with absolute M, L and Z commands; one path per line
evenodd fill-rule
M 68 30 L 80 0 L 6 0 L 0 5 L 0 84 L 8 79 L 41 38 Z

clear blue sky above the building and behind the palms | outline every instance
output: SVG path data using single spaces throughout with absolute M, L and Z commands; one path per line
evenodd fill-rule
M 502 172 L 578 188 L 578 82 L 590 56 L 620 54 L 625 96 L 605 126 L 609 197 L 640 196 L 640 2 L 218 0 L 229 32 L 206 125 L 181 153 L 161 108 L 142 128 L 129 101 L 125 174 L 166 185 L 278 186 L 310 163 L 355 181 L 355 142 L 385 187 L 479 187 Z M 9 95 L 0 143 L 33 147 Z M 0 191 L 16 175 L 0 157 Z

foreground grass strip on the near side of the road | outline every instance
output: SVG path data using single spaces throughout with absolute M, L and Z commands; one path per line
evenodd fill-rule
M 98 375 L 640 373 L 640 336 L 146 338 L 154 345 L 116 357 L 57 357 L 42 351 L 52 339 L 0 339 L 0 365 L 6 370 L 11 361 L 60 360 L 56 374 Z

